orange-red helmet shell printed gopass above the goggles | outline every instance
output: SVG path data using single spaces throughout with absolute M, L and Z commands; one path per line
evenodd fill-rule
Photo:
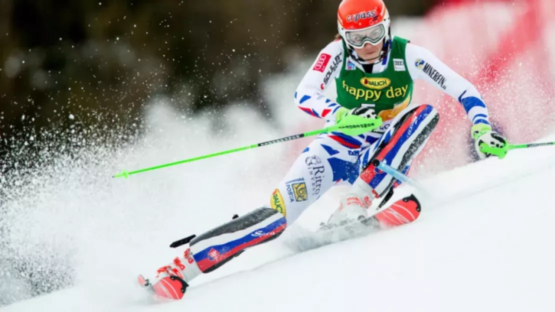
M 337 9 L 337 23 L 344 31 L 369 28 L 388 18 L 382 0 L 343 0 Z

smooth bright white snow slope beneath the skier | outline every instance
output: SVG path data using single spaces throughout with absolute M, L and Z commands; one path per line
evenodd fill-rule
M 513 150 L 503 160 L 429 177 L 421 182 L 432 197 L 422 200 L 416 222 L 296 253 L 291 246 L 301 229 L 315 228 L 335 208 L 341 193 L 336 190 L 289 234 L 195 280 L 183 300 L 155 303 L 135 283 L 135 275 L 152 275 L 181 249 L 166 248 L 179 237 L 159 235 L 162 229 L 149 224 L 166 220 L 174 230 L 164 233 L 175 235 L 190 234 L 180 225 L 195 224 L 188 220 L 190 209 L 165 208 L 157 220 L 124 225 L 139 233 L 133 248 L 116 236 L 115 242 L 102 241 L 104 246 L 90 244 L 90 258 L 83 259 L 72 288 L 2 310 L 553 311 L 553 159 L 552 147 Z M 191 189 L 183 197 L 194 193 Z M 234 200 L 199 200 L 195 209 L 207 214 L 203 228 L 221 221 L 210 222 L 213 207 Z M 164 198 L 157 201 L 165 205 Z M 125 208 L 114 207 L 118 209 Z M 199 214 L 196 218 L 201 222 Z M 103 238 L 109 234 L 98 233 Z

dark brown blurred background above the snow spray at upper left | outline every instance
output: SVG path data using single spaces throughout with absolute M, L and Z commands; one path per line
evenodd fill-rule
M 387 5 L 421 15 L 432 2 Z M 284 71 L 292 51 L 324 47 L 339 3 L 0 0 L 0 150 L 45 126 L 132 134 L 160 95 L 188 113 L 241 99 L 271 117 L 260 79 Z M 44 139 L 55 138 L 28 143 Z

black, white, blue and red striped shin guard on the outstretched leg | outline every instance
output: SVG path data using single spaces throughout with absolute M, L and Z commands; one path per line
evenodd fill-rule
M 246 248 L 278 238 L 285 230 L 285 217 L 271 208 L 258 208 L 196 236 L 189 243 L 199 269 L 209 273 L 238 256 Z

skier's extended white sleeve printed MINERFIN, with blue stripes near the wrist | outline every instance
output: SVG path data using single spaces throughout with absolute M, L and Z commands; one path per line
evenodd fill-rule
M 473 124 L 490 124 L 482 96 L 468 80 L 441 62 L 427 49 L 407 43 L 405 57 L 412 80 L 423 79 L 462 104 Z

